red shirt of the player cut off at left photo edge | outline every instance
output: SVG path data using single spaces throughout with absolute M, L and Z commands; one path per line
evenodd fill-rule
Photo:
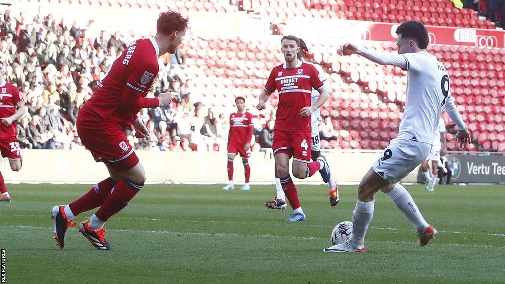
M 4 81 L 0 85 L 0 118 L 8 118 L 16 113 L 16 105 L 23 103 L 23 98 L 19 93 L 19 89 L 11 83 Z M 16 136 L 16 121 L 11 125 L 5 126 L 0 121 L 0 137 Z

